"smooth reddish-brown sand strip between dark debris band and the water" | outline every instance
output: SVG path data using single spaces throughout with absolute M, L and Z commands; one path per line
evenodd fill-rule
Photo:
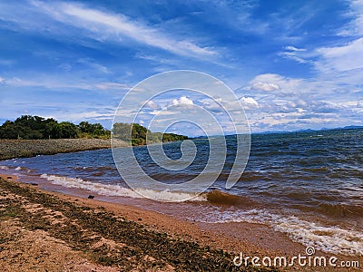
M 83 196 L 73 196 L 70 194 L 39 189 L 39 186 L 36 184 L 23 183 L 25 180 L 22 182 L 15 181 L 16 177 L 3 175 L 3 178 L 5 178 L 5 181 L 7 180 L 6 182 L 8 183 L 15 183 L 17 186 L 32 190 L 33 194 L 39 192 L 45 196 L 53 196 L 56 199 L 61 199 L 61 201 L 71 203 L 72 205 L 81 205 L 82 207 L 87 207 L 87 209 L 101 209 L 103 211 L 111 212 L 116 217 L 142 225 L 143 228 L 148 231 L 162 232 L 167 234 L 168 237 L 177 238 L 178 240 L 187 243 L 195 243 L 201 248 L 210 248 L 212 250 L 217 250 L 217 252 L 224 250 L 224 252 L 226 252 L 225 254 L 228 254 L 229 256 L 227 263 L 230 265 L 232 264 L 233 256 L 238 256 L 240 252 L 242 252 L 244 256 L 250 257 L 292 257 L 297 256 L 298 254 L 305 254 L 304 246 L 291 241 L 285 234 L 277 232 L 266 225 L 247 222 L 219 224 L 192 222 L 153 210 L 142 209 L 142 206 L 140 205 L 136 207 L 132 204 L 105 202 L 103 199 L 98 199 L 98 196 L 96 196 L 95 199 L 87 199 L 86 192 L 83 193 Z M 62 207 L 62 205 L 59 206 Z M 58 209 L 56 207 L 57 205 L 53 209 Z M 94 219 L 96 218 L 98 218 L 98 216 Z M 152 240 L 149 242 L 152 243 Z M 143 255 L 147 255 L 147 253 L 143 252 Z M 331 254 L 320 251 L 317 251 L 317 255 L 326 257 L 332 256 Z M 359 263 L 362 263 L 362 257 L 338 256 L 338 258 L 340 260 L 359 259 Z M 236 267 L 229 267 L 228 270 L 230 270 L 230 268 L 234 269 Z M 238 268 L 239 269 L 237 270 L 243 271 L 242 268 L 244 267 Z M 294 267 L 294 269 L 306 270 L 307 267 Z M 335 269 L 337 270 L 337 268 Z M 286 268 L 284 268 L 284 270 L 286 270 Z M 329 271 L 329 267 L 314 267 L 314 270 Z M 169 270 L 166 269 L 162 271 Z M 218 271 L 218 269 L 216 271 Z M 339 269 L 337 271 L 339 271 Z M 341 269 L 341 271 L 349 270 Z M 352 268 L 351 271 L 357 271 L 357 269 Z

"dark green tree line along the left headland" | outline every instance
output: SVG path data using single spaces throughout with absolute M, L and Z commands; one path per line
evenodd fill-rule
M 103 128 L 100 123 L 81 121 L 78 125 L 70 121 L 58 122 L 53 118 L 23 115 L 15 121 L 5 121 L 0 126 L 0 139 L 41 140 L 113 137 L 131 142 L 132 146 L 165 141 L 182 141 L 187 136 L 174 133 L 152 132 L 138 123 L 118 122 L 113 124 L 113 131 Z

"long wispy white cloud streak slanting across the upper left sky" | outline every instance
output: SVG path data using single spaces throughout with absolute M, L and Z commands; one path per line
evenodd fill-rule
M 86 30 L 91 37 L 101 41 L 112 39 L 117 43 L 125 43 L 125 39 L 131 39 L 179 55 L 198 58 L 217 55 L 209 47 L 201 47 L 191 40 L 166 34 L 160 28 L 132 20 L 122 14 L 106 13 L 73 3 L 32 3 L 55 20 Z

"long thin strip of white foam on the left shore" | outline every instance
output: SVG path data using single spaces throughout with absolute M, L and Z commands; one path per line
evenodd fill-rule
M 55 175 L 43 174 L 43 179 L 51 181 L 53 184 L 61 185 L 66 188 L 86 189 L 103 196 L 120 196 L 135 199 L 143 199 L 143 196 L 152 196 L 152 199 L 162 201 L 182 201 L 190 199 L 193 201 L 205 201 L 206 199 L 196 193 L 176 192 L 170 190 L 153 190 L 153 189 L 127 189 L 120 185 L 102 184 L 90 182 L 82 179 L 67 178 Z

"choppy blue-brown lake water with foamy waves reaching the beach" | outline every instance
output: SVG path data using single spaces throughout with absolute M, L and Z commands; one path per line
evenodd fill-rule
M 162 169 L 152 161 L 146 147 L 133 151 L 142 170 L 153 179 L 181 184 L 198 176 L 209 159 L 209 141 L 194 142 L 197 156 L 184 170 Z M 305 245 L 363 255 L 363 130 L 252 135 L 246 170 L 228 190 L 225 181 L 235 162 L 235 137 L 227 137 L 227 143 L 227 160 L 211 192 L 190 204 L 170 204 L 178 206 L 178 216 L 210 223 L 260 222 Z M 178 160 L 182 156 L 180 145 L 168 143 L 163 149 L 170 159 Z M 0 161 L 0 167 L 66 188 L 142 198 L 123 182 L 110 150 L 5 160 Z M 137 180 L 140 172 L 132 174 Z M 142 189 L 150 190 L 141 186 L 140 192 Z M 162 200 L 185 199 L 185 195 L 198 192 L 198 188 L 177 192 L 152 188 L 155 199 Z

